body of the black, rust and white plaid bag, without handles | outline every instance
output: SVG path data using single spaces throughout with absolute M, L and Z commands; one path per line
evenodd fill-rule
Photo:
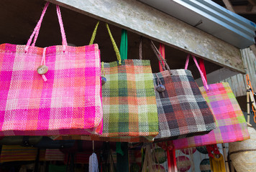
M 170 72 L 172 75 L 170 75 Z M 154 74 L 154 85 L 164 85 L 164 92 L 155 91 L 159 119 L 156 139 L 176 139 L 209 133 L 216 125 L 214 115 L 201 95 L 189 70 L 165 70 Z

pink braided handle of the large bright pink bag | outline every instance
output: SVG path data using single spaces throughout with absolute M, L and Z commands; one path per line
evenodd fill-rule
M 35 47 L 35 42 L 37 41 L 37 37 L 38 37 L 38 34 L 40 32 L 40 27 L 41 27 L 41 24 L 42 24 L 42 19 L 45 16 L 45 12 L 46 12 L 47 7 L 49 6 L 49 4 L 50 4 L 49 2 L 47 2 L 45 4 L 45 7 L 42 10 L 42 14 L 40 16 L 40 20 L 37 22 L 37 26 L 35 27 L 33 33 L 29 37 L 29 40 L 27 41 L 27 45 L 25 47 L 25 52 L 28 51 L 30 45 L 32 47 Z M 62 36 L 62 39 L 63 39 L 63 42 L 62 42 L 62 44 L 63 44 L 63 51 L 65 52 L 65 47 L 68 46 L 68 42 L 67 42 L 67 39 L 65 37 L 65 30 L 64 30 L 64 27 L 63 27 L 63 20 L 61 18 L 60 6 L 56 5 L 56 11 L 57 11 L 57 15 L 58 15 L 58 21 L 59 21 L 59 24 L 60 24 L 60 32 L 61 32 L 61 36 Z M 31 44 L 33 37 L 34 37 L 34 41 Z

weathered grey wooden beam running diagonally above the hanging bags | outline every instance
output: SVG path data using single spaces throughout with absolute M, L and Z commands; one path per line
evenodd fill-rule
M 134 0 L 47 0 L 244 73 L 237 47 Z

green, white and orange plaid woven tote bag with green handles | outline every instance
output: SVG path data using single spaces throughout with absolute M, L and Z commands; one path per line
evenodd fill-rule
M 90 44 L 96 36 L 96 28 Z M 101 140 L 150 142 L 158 134 L 157 105 L 150 60 L 121 59 L 108 24 L 116 62 L 102 62 L 103 132 L 102 135 L 60 135 L 55 140 Z

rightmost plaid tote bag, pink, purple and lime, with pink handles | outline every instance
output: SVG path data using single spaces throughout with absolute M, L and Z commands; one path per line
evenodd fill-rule
M 186 68 L 188 67 L 188 60 L 189 55 Z M 193 56 L 193 60 L 198 69 L 200 69 L 196 57 Z M 204 74 L 201 73 L 201 77 L 203 79 Z M 204 87 L 199 87 L 199 89 L 211 108 L 211 111 L 214 113 L 216 128 L 206 135 L 173 140 L 175 148 L 182 149 L 249 139 L 250 135 L 247 130 L 247 123 L 229 83 L 221 82 L 207 85 L 206 80 L 203 79 L 203 81 Z

